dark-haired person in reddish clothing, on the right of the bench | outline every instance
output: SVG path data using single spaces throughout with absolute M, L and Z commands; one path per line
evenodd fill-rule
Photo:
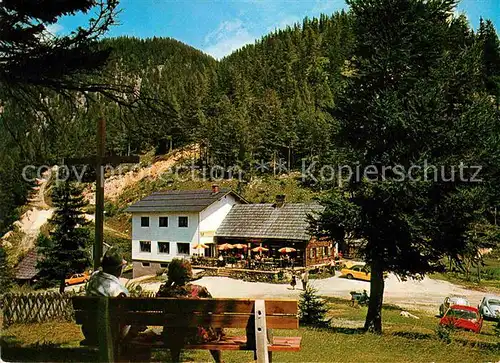
M 191 264 L 187 260 L 173 259 L 168 266 L 167 276 L 167 282 L 160 286 L 156 294 L 157 297 L 187 297 L 193 299 L 212 297 L 206 287 L 188 283 L 193 278 L 193 271 Z M 184 344 L 219 341 L 223 337 L 224 331 L 222 329 L 206 326 L 199 326 L 197 329 L 163 328 L 163 339 L 170 348 L 172 361 L 174 362 L 180 361 L 180 351 Z M 215 362 L 222 362 L 220 351 L 211 350 L 210 353 Z

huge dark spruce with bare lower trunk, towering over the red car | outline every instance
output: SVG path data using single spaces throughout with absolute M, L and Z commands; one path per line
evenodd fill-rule
M 365 329 L 376 333 L 383 272 L 418 278 L 439 269 L 444 256 L 460 261 L 469 228 L 491 205 L 498 117 L 483 92 L 480 47 L 454 17 L 456 3 L 348 1 L 356 45 L 333 112 L 334 136 L 361 173 L 332 190 L 318 230 L 364 241 L 359 252 L 371 268 Z

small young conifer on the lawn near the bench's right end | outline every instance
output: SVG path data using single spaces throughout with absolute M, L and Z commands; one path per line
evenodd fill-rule
M 326 319 L 328 308 L 317 293 L 317 289 L 307 286 L 306 290 L 300 294 L 299 320 L 305 325 L 325 327 L 329 325 L 329 320 Z

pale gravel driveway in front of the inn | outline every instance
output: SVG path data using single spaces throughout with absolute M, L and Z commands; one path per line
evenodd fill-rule
M 350 299 L 350 291 L 363 291 L 370 294 L 370 284 L 365 281 L 348 280 L 338 276 L 322 280 L 310 280 L 322 296 Z M 292 290 L 290 285 L 277 285 L 246 282 L 227 277 L 204 277 L 196 284 L 205 286 L 214 297 L 228 298 L 288 298 L 298 299 L 302 289 Z M 143 284 L 144 289 L 158 291 L 160 283 Z M 297 287 L 301 287 L 301 284 Z M 437 314 L 439 305 L 449 294 L 465 295 L 472 306 L 479 304 L 484 292 L 467 290 L 446 281 L 424 278 L 422 281 L 399 281 L 390 274 L 386 279 L 384 303 L 395 304 L 405 309 L 423 310 Z

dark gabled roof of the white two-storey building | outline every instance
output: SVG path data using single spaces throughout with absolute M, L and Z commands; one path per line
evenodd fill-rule
M 128 207 L 126 212 L 201 212 L 228 194 L 246 203 L 230 189 L 220 189 L 218 193 L 212 190 L 168 190 L 141 199 Z

